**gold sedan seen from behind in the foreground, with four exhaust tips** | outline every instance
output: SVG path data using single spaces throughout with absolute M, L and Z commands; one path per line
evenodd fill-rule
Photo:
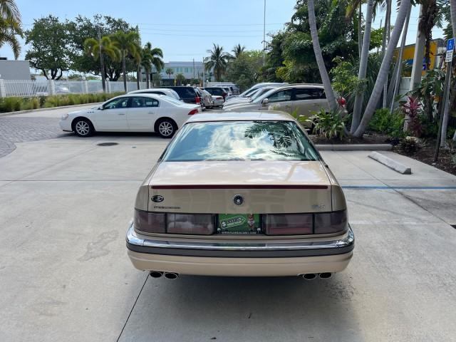
M 317 276 L 353 255 L 346 200 L 290 115 L 194 115 L 138 190 L 128 256 L 153 277 Z

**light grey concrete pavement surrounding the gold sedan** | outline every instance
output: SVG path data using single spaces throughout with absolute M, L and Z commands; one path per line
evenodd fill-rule
M 322 152 L 356 234 L 346 271 L 151 279 L 124 236 L 166 144 L 65 135 L 0 158 L 0 341 L 456 341 L 456 177 L 393 152 L 412 175 Z

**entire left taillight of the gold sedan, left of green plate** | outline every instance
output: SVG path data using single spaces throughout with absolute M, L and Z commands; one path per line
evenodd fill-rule
M 173 214 L 138 209 L 135 209 L 133 222 L 135 229 L 146 233 L 210 235 L 215 227 L 212 214 Z

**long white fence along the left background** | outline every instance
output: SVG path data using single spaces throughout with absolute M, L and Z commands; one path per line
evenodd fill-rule
M 145 82 L 140 82 L 140 89 L 146 88 Z M 127 91 L 137 90 L 136 82 L 127 82 Z M 106 92 L 124 91 L 123 81 L 106 81 Z M 9 96 L 46 96 L 65 94 L 103 93 L 101 81 L 11 81 L 0 79 L 0 97 Z

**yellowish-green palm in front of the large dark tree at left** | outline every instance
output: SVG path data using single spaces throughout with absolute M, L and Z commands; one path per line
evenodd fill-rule
M 84 41 L 84 51 L 89 56 L 92 56 L 95 61 L 100 58 L 100 75 L 101 83 L 103 84 L 103 91 L 106 91 L 106 76 L 105 76 L 105 65 L 103 61 L 103 55 L 108 56 L 113 61 L 120 61 L 120 51 L 114 46 L 113 41 L 108 36 L 104 36 L 100 39 L 87 38 Z

